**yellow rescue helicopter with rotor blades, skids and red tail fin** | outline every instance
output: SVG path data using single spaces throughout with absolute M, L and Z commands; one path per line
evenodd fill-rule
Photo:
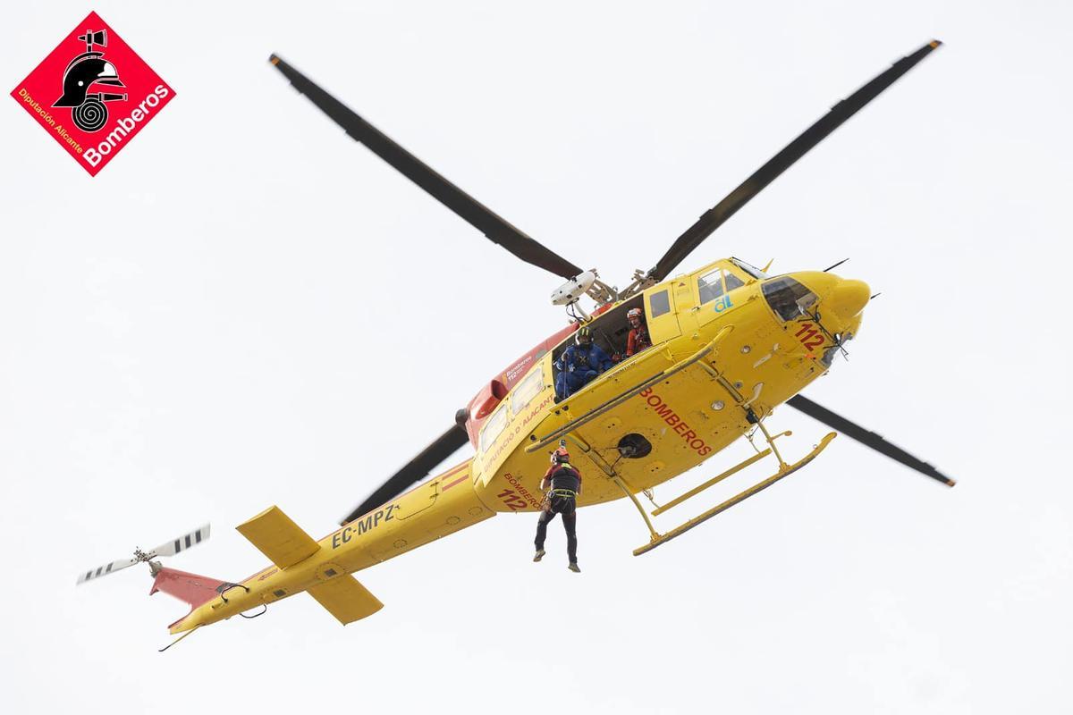
M 315 540 L 276 506 L 240 524 L 238 531 L 271 562 L 253 576 L 222 581 L 165 568 L 156 561 L 206 539 L 209 530 L 204 526 L 148 552 L 137 550 L 132 558 L 90 569 L 79 575 L 78 582 L 148 563 L 155 578 L 151 593 L 163 591 L 191 607 L 170 627 L 182 638 L 235 614 L 254 617 L 268 605 L 303 592 L 340 623 L 351 623 L 382 607 L 352 576 L 354 571 L 499 512 L 542 509 L 547 455 L 560 446 L 570 449 L 572 461 L 585 474 L 577 506 L 632 501 L 648 532 L 647 541 L 633 552 L 640 555 L 785 478 L 824 450 L 834 432 L 804 456 L 784 456 L 791 433 L 768 424 L 782 403 L 954 486 L 930 464 L 799 394 L 827 373 L 857 334 L 872 297 L 864 282 L 831 272 L 840 264 L 773 277 L 732 257 L 668 278 L 726 219 L 939 45 L 938 41 L 924 45 L 837 103 L 705 212 L 655 267 L 636 271 L 624 289 L 607 285 L 594 270 L 582 270 L 512 226 L 273 55 L 271 64 L 352 138 L 494 242 L 567 279 L 552 298 L 567 308 L 572 323 L 482 386 L 440 437 L 374 490 L 333 533 Z M 583 296 L 597 303 L 591 314 L 579 304 Z M 574 343 L 575 331 L 585 328 L 605 353 L 618 357 L 631 330 L 627 316 L 636 315 L 638 309 L 649 346 L 614 360 L 586 384 L 568 387 L 560 358 Z M 638 495 L 651 500 L 653 487 L 743 436 L 754 447 L 751 457 L 671 501 L 660 505 L 652 501 L 650 513 L 642 506 Z M 474 448 L 473 457 L 426 478 L 467 442 Z M 650 516 L 660 516 L 764 460 L 771 463 L 768 476 L 752 487 L 666 531 L 653 525 Z

